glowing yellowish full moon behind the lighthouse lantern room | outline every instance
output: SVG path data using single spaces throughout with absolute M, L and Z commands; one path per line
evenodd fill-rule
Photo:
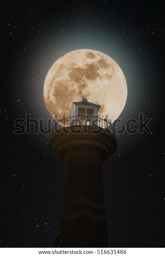
M 68 116 L 72 102 L 86 97 L 101 105 L 99 117 L 112 122 L 120 116 L 127 100 L 127 83 L 120 66 L 108 55 L 90 49 L 68 52 L 47 73 L 44 100 L 57 121 Z M 106 116 L 107 119 L 107 116 Z

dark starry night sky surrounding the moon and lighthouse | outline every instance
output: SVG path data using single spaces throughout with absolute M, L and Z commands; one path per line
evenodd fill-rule
M 103 164 L 111 247 L 165 247 L 164 1 L 3 1 L 1 3 L 1 247 L 53 247 L 61 162 L 51 135 L 14 134 L 14 121 L 51 118 L 47 71 L 61 55 L 99 50 L 125 74 L 122 124 L 139 113 L 152 134 L 118 134 Z M 81 99 L 80 99 L 81 100 Z M 132 126 L 138 128 L 137 125 Z

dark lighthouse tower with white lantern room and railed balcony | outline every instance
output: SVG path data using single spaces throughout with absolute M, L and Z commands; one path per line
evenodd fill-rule
M 115 130 L 82 98 L 54 126 L 50 148 L 63 161 L 61 225 L 55 247 L 108 247 L 101 164 L 117 148 Z

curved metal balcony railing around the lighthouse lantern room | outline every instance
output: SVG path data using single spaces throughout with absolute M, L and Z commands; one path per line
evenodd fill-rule
M 62 119 L 54 124 L 54 131 L 59 129 L 71 127 L 71 126 L 93 126 L 98 128 L 103 128 L 108 133 L 115 135 L 115 129 L 113 125 L 106 119 L 102 119 L 95 116 L 70 116 Z

